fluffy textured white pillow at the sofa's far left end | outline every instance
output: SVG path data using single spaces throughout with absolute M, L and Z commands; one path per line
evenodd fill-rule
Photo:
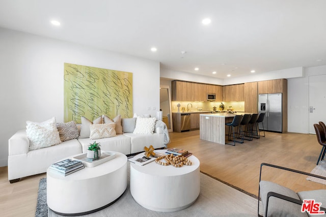
M 26 135 L 30 140 L 29 150 L 45 148 L 61 143 L 55 117 L 40 123 L 26 121 Z

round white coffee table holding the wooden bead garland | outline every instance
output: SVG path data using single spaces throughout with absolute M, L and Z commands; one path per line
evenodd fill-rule
M 144 166 L 130 163 L 130 193 L 133 199 L 147 209 L 160 212 L 173 212 L 192 205 L 200 193 L 200 162 L 195 156 L 188 159 L 192 161 L 192 166 L 180 168 L 161 166 L 155 162 Z

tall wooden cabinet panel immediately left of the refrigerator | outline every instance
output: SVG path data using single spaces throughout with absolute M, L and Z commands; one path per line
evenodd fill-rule
M 257 113 L 257 82 L 244 83 L 244 111 Z

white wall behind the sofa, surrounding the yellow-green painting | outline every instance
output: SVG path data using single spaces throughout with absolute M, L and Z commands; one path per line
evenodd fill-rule
M 156 116 L 159 62 L 0 28 L 0 167 L 26 120 L 63 121 L 64 63 L 133 73 L 133 112 Z

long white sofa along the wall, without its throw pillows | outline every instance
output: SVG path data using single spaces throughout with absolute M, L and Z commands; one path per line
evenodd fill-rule
M 78 130 L 80 133 L 80 125 Z M 46 172 L 51 164 L 74 154 L 86 152 L 88 145 L 94 141 L 100 142 L 101 150 L 118 151 L 126 155 L 142 152 L 144 146 L 153 145 L 155 149 L 164 148 L 170 142 L 167 127 L 159 120 L 155 122 L 152 134 L 128 132 L 95 140 L 79 137 L 57 145 L 29 150 L 30 140 L 26 135 L 26 130 L 17 131 L 9 139 L 8 179 L 10 183 L 19 181 L 25 176 Z

